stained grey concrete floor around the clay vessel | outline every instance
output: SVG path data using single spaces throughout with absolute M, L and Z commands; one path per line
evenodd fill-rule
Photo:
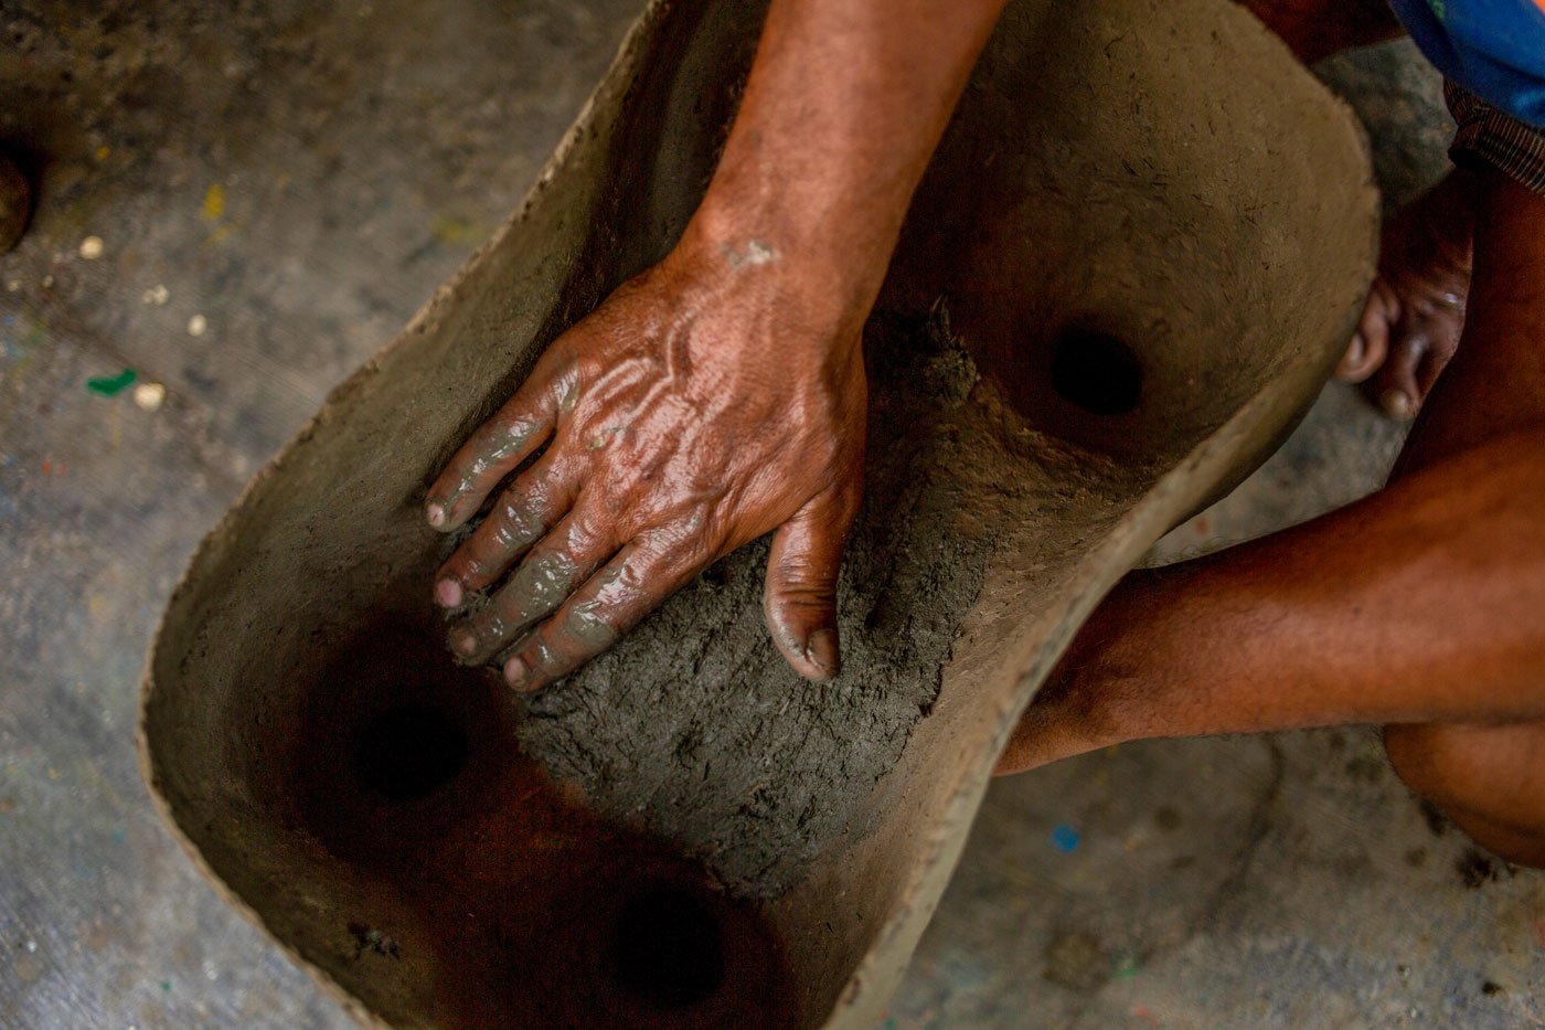
M 518 203 L 638 5 L 318 6 L 0 8 L 0 145 L 42 179 L 0 257 L 5 1027 L 346 1025 L 151 812 L 139 665 L 199 537 Z M 1321 71 L 1392 200 L 1441 173 L 1409 46 Z M 1327 388 L 1154 560 L 1353 500 L 1398 444 Z M 1542 979 L 1545 880 L 1335 730 L 1000 783 L 887 1025 L 1540 1025 Z

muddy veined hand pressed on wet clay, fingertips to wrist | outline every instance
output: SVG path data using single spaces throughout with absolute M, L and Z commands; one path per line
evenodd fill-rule
M 769 244 L 683 243 L 553 342 L 430 487 L 465 662 L 538 690 L 768 532 L 765 609 L 800 674 L 837 673 L 836 586 L 862 489 L 862 314 L 813 300 Z M 813 277 L 803 274 L 803 280 Z

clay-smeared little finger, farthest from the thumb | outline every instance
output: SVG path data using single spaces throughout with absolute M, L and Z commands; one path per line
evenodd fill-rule
M 575 388 L 572 379 L 572 373 L 545 373 L 539 363 L 527 384 L 477 427 L 430 486 L 423 512 L 431 526 L 459 529 L 499 481 L 552 436 L 564 391 Z

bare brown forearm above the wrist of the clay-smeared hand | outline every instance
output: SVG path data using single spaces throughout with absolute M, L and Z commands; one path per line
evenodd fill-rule
M 772 0 L 689 240 L 862 322 L 1004 0 Z

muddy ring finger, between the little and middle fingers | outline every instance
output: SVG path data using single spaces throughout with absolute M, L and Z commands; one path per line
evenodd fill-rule
M 434 577 L 434 599 L 459 608 L 468 591 L 480 591 L 508 571 L 569 512 L 576 476 L 553 450 L 522 472 Z

